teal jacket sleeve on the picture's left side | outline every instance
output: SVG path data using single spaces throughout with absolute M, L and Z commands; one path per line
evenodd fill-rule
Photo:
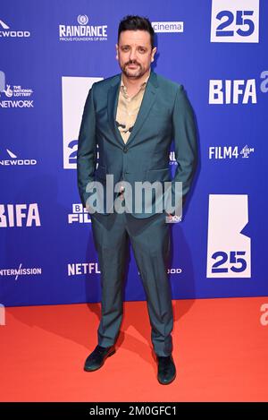
M 89 182 L 94 181 L 96 169 L 96 116 L 93 100 L 94 83 L 88 92 L 84 106 L 77 151 L 77 181 L 80 200 L 84 207 L 90 195 L 86 191 Z

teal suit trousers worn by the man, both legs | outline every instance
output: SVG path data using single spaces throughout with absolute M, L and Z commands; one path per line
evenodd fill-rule
M 157 356 L 172 354 L 172 294 L 167 275 L 171 224 L 166 214 L 147 219 L 130 213 L 91 215 L 92 234 L 101 270 L 102 311 L 97 330 L 99 346 L 112 346 L 120 332 L 122 289 L 128 244 L 132 246 L 147 296 L 151 340 Z

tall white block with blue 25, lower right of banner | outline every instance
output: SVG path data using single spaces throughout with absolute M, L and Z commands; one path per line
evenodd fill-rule
M 251 278 L 251 239 L 247 195 L 210 194 L 207 233 L 207 278 Z

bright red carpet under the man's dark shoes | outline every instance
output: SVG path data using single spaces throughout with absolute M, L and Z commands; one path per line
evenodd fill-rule
M 1 401 L 267 401 L 268 297 L 173 301 L 177 377 L 156 379 L 145 302 L 124 304 L 116 353 L 83 364 L 97 344 L 99 304 L 6 308 Z M 268 318 L 268 317 L 267 317 Z

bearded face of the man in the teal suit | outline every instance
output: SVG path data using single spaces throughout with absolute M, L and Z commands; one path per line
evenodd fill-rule
M 139 79 L 148 72 L 155 52 L 147 30 L 123 30 L 116 44 L 116 59 L 122 73 L 130 79 Z

